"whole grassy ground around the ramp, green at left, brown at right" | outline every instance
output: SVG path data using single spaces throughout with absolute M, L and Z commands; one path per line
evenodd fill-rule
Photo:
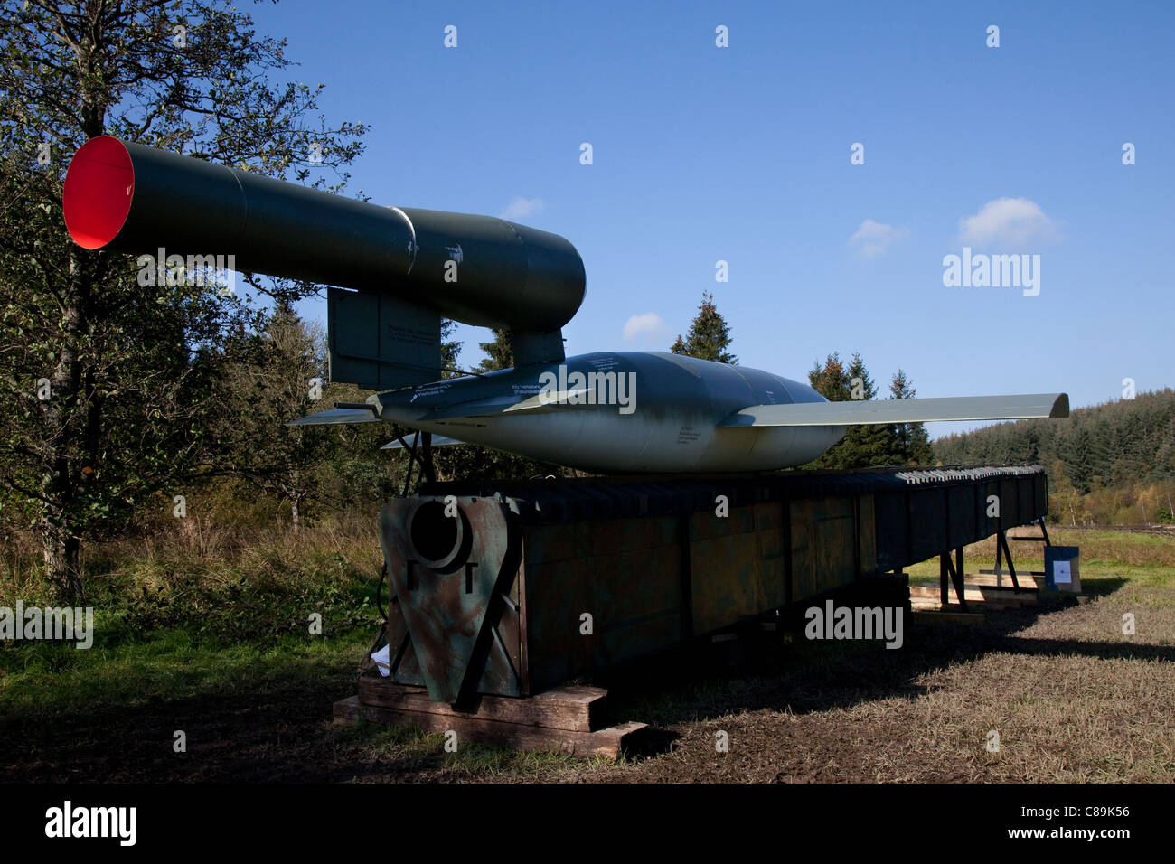
M 1054 531 L 1089 602 L 915 624 L 905 645 L 801 634 L 700 645 L 607 682 L 650 723 L 619 764 L 335 726 L 378 615 L 362 522 L 301 536 L 126 541 L 88 562 L 96 638 L 0 648 L 12 781 L 1175 781 L 1175 541 Z M 1014 544 L 1040 569 L 1039 547 Z M 1026 548 L 1027 547 L 1027 548 Z M 967 550 L 991 567 L 994 544 Z M 1023 562 L 1023 563 L 1020 563 Z M 13 567 L 5 604 L 45 602 Z M 936 562 L 912 581 L 938 577 Z M 307 621 L 322 615 L 323 635 Z M 1122 632 L 1132 612 L 1136 631 Z M 651 685 L 650 682 L 656 682 Z M 716 734 L 730 750 L 718 754 Z M 986 749 L 991 732 L 999 751 Z M 186 751 L 176 752 L 176 732 Z

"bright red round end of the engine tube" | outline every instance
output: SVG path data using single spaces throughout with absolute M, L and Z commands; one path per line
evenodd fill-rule
M 100 249 L 122 230 L 135 195 L 130 153 L 116 138 L 92 138 L 78 148 L 66 172 L 61 207 L 69 236 L 83 249 Z

